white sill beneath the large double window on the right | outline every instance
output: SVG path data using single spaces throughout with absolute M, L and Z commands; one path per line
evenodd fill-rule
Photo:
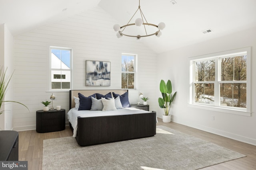
M 206 110 L 212 110 L 212 111 L 219 111 L 224 113 L 230 113 L 235 115 L 242 115 L 242 116 L 252 116 L 251 112 L 242 111 L 242 110 L 235 110 L 235 109 L 226 109 L 226 108 L 220 108 L 220 107 L 213 107 L 213 106 L 202 106 L 197 104 L 188 104 L 188 107 L 198 108 L 198 109 L 206 109 Z

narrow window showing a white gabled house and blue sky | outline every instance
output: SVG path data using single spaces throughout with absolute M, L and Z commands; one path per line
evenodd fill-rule
M 72 49 L 51 47 L 51 90 L 71 88 Z

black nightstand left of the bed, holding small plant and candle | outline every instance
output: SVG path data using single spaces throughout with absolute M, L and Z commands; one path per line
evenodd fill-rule
M 65 129 L 65 109 L 36 111 L 36 131 L 38 133 L 62 131 Z

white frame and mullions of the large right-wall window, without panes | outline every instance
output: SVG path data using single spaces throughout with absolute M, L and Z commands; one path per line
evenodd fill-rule
M 239 83 L 245 82 L 246 83 L 246 108 L 242 107 L 230 107 L 230 106 L 221 106 L 220 105 L 220 83 L 236 83 L 238 81 L 221 81 L 221 75 L 220 75 L 220 60 L 222 58 L 227 57 L 236 57 L 239 55 L 242 55 L 246 53 L 246 80 L 239 81 Z M 204 103 L 196 103 L 194 102 L 194 82 L 196 82 L 195 78 L 195 62 L 198 61 L 206 61 L 215 59 L 215 81 L 214 81 L 214 98 L 217 98 L 218 100 L 214 101 L 214 104 L 204 104 Z M 213 110 L 213 111 L 220 111 L 225 113 L 232 113 L 232 114 L 238 114 L 238 115 L 246 115 L 251 116 L 251 47 L 246 47 L 242 49 L 235 49 L 230 51 L 223 51 L 219 53 L 212 53 L 208 55 L 202 55 L 202 56 L 196 56 L 196 57 L 190 57 L 189 58 L 189 99 L 188 104 L 190 107 L 196 107 L 201 109 L 207 109 L 207 110 Z M 208 83 L 208 81 L 205 82 L 196 82 L 196 83 Z

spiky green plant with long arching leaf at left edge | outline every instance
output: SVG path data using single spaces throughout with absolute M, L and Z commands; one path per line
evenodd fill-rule
M 10 78 L 7 77 L 6 76 L 6 71 L 7 71 L 7 68 L 4 70 L 3 66 L 0 67 L 0 108 L 1 108 L 3 102 L 14 102 L 14 103 L 18 103 L 18 104 L 21 104 L 21 105 L 25 106 L 24 104 L 22 104 L 20 102 L 4 101 L 4 96 L 6 95 L 8 84 L 10 83 L 10 80 L 11 80 L 12 75 L 13 75 L 13 72 L 12 72 Z M 25 107 L 28 109 L 27 106 L 25 106 Z M 3 112 L 4 112 L 4 110 L 0 111 L 0 114 L 2 114 Z

